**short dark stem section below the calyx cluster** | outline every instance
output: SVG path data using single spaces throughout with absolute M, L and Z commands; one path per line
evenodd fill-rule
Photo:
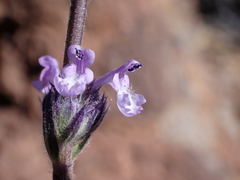
M 53 164 L 53 180 L 73 180 L 73 166 Z

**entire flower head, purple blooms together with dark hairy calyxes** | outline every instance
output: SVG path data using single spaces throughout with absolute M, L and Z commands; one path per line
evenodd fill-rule
M 146 102 L 140 94 L 130 89 L 128 73 L 142 65 L 130 60 L 123 66 L 94 80 L 92 70 L 95 53 L 90 49 L 72 45 L 68 48 L 71 61 L 59 70 L 58 61 L 51 56 L 39 58 L 44 67 L 34 87 L 46 94 L 42 101 L 43 135 L 48 155 L 53 163 L 55 177 L 72 169 L 74 160 L 98 128 L 106 112 L 106 97 L 100 97 L 99 89 L 110 84 L 117 91 L 117 105 L 127 117 L 143 109 Z

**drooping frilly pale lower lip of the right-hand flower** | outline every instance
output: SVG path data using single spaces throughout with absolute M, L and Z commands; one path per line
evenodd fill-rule
M 145 102 L 146 99 L 141 94 L 117 94 L 117 106 L 123 115 L 127 117 L 132 117 L 136 114 L 139 114 L 141 110 L 143 110 L 141 105 Z

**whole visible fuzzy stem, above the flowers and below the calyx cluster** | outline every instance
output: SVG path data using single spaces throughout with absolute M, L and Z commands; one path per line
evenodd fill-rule
M 63 66 L 69 63 L 67 49 L 71 45 L 81 45 L 87 6 L 90 0 L 71 0 Z M 62 149 L 59 161 L 53 162 L 53 180 L 73 180 L 73 160 L 71 149 Z

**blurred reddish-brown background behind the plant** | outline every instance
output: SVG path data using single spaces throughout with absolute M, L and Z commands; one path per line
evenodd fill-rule
M 70 0 L 0 0 L 0 179 L 50 180 L 43 96 L 32 87 L 62 63 Z M 240 2 L 92 0 L 83 47 L 98 78 L 136 59 L 144 111 L 111 108 L 75 164 L 76 180 L 240 179 Z

